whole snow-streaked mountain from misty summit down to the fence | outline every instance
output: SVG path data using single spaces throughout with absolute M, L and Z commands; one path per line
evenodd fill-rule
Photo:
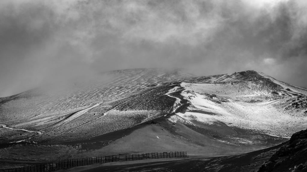
M 234 155 L 280 144 L 307 127 L 307 89 L 257 71 L 192 77 L 130 69 L 108 76 L 58 94 L 34 89 L 1 98 L 0 158 Z

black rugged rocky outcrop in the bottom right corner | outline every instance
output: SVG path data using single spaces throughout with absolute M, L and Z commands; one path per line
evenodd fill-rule
M 307 129 L 294 133 L 258 172 L 307 171 Z

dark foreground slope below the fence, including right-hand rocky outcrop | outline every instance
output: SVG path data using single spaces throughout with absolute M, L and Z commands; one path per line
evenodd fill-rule
M 135 161 L 107 163 L 73 168 L 68 171 L 200 171 L 200 172 L 304 172 L 307 171 L 307 129 L 293 134 L 289 141 L 272 148 L 241 155 L 188 159 L 167 159 L 159 162 Z

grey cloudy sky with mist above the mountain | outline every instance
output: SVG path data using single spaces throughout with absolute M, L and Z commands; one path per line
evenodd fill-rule
M 0 97 L 109 70 L 257 70 L 307 87 L 305 0 L 1 0 Z

